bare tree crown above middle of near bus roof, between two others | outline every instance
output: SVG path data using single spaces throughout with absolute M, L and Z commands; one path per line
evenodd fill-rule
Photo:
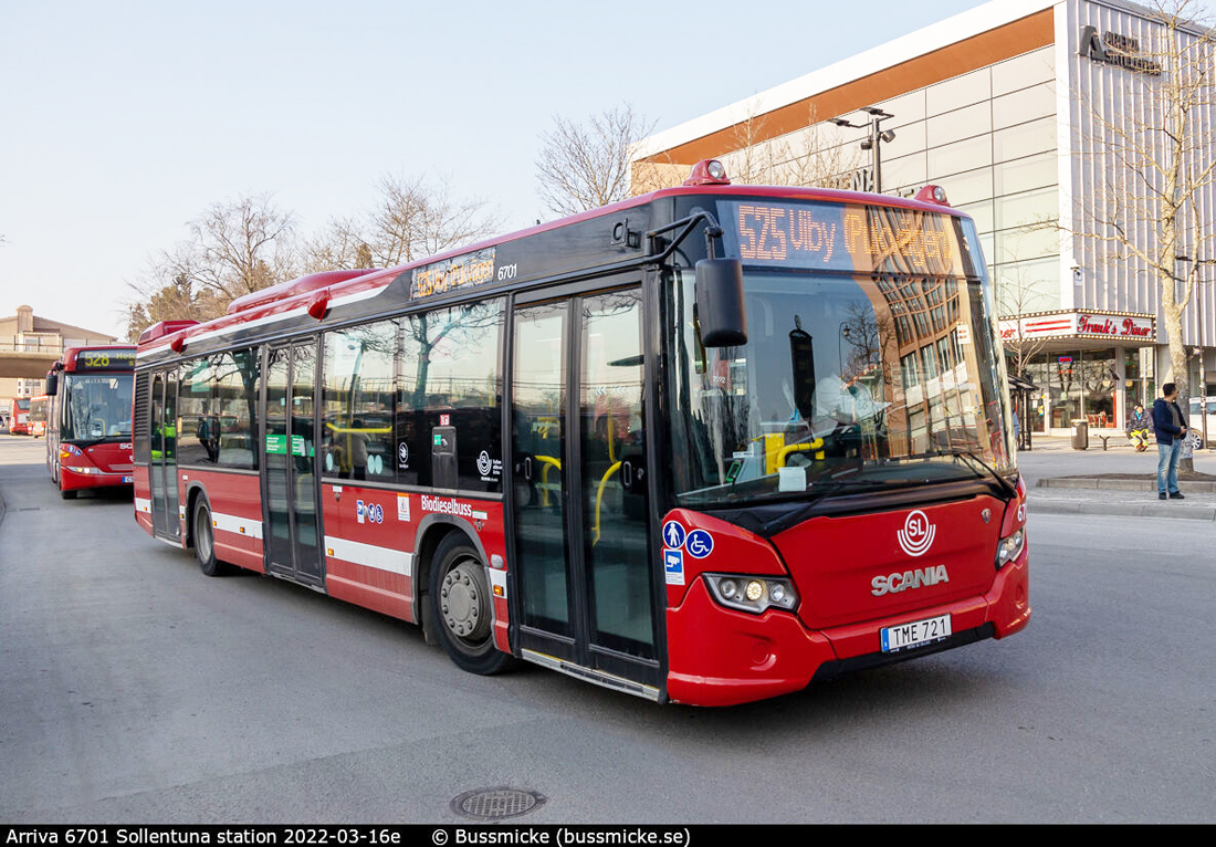
M 446 179 L 383 176 L 368 212 L 336 218 L 305 246 L 308 270 L 392 268 L 492 235 L 500 221 L 480 200 L 456 197 Z

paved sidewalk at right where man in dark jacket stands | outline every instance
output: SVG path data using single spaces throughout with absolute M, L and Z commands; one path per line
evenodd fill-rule
M 1156 449 L 1136 453 L 1110 439 L 1074 450 L 1069 438 L 1035 436 L 1018 454 L 1029 487 L 1028 509 L 1048 515 L 1127 515 L 1216 521 L 1216 450 L 1197 450 L 1195 473 L 1180 475 L 1184 500 L 1156 495 Z

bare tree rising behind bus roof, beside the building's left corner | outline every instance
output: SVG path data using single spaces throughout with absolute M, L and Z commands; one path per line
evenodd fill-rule
M 545 206 L 568 215 L 627 197 L 630 145 L 649 135 L 655 123 L 629 103 L 592 116 L 585 125 L 554 116 L 553 129 L 541 133 L 536 158 Z

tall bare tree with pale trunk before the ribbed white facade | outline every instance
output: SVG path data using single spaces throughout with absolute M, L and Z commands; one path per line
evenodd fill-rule
M 1203 11 L 1197 0 L 1148 5 L 1156 27 L 1144 45 L 1093 34 L 1091 57 L 1122 68 L 1125 96 L 1119 108 L 1080 97 L 1092 127 L 1085 140 L 1115 167 L 1094 180 L 1090 197 L 1079 198 L 1074 235 L 1104 247 L 1109 262 L 1138 264 L 1155 279 L 1170 366 L 1184 400 L 1189 380 L 1182 315 L 1200 268 L 1216 260 L 1216 228 L 1209 217 L 1216 193 L 1210 127 L 1216 30 L 1193 19 Z

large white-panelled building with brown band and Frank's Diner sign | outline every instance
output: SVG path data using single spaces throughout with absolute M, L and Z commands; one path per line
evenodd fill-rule
M 995 0 L 646 139 L 635 185 L 682 179 L 703 158 L 749 178 L 736 181 L 941 185 L 976 221 L 1010 372 L 1036 386 L 1026 425 L 1121 430 L 1136 400 L 1175 378 L 1149 262 L 1169 159 L 1165 134 L 1147 129 L 1171 79 L 1155 55 L 1165 30 L 1120 0 Z M 1203 174 L 1216 67 L 1197 49 L 1203 30 L 1184 26 L 1177 41 L 1207 72 L 1183 152 Z M 1120 140 L 1144 155 L 1142 172 Z M 1178 275 L 1199 280 L 1182 324 L 1190 393 L 1216 396 L 1216 174 L 1200 183 L 1175 252 Z

